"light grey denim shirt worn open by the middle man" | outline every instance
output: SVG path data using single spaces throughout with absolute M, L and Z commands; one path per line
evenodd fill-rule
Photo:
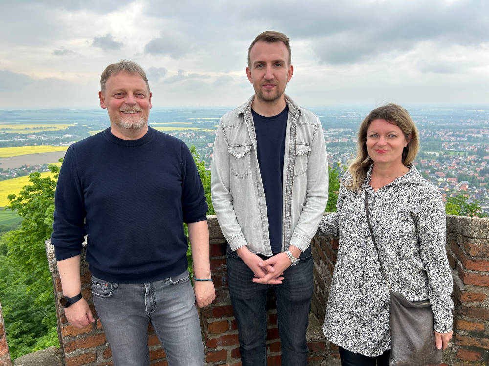
M 234 251 L 244 245 L 271 256 L 267 205 L 257 157 L 251 97 L 219 122 L 212 155 L 211 194 L 219 226 Z M 304 251 L 328 201 L 326 146 L 319 118 L 287 95 L 282 186 L 282 251 Z

